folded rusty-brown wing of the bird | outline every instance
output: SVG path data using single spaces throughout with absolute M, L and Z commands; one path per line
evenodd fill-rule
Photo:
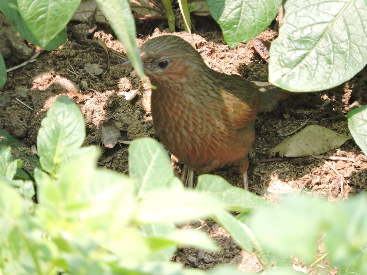
M 241 129 L 250 124 L 256 117 L 261 102 L 261 94 L 258 88 L 250 81 L 231 75 L 222 82 L 221 94 L 229 123 L 236 129 Z M 228 81 L 230 80 L 230 81 Z

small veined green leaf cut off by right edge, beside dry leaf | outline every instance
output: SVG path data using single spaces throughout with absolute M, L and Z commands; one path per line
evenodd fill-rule
M 353 139 L 367 155 L 367 105 L 350 110 L 346 117 Z

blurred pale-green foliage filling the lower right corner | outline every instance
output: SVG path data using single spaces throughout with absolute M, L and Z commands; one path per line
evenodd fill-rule
M 284 197 L 281 205 L 256 211 L 249 226 L 271 250 L 293 254 L 308 264 L 315 260 L 321 240 L 331 267 L 353 267 L 356 274 L 366 274 L 366 207 L 366 194 L 334 204 L 310 197 Z M 271 226 L 264 226 L 264 220 Z

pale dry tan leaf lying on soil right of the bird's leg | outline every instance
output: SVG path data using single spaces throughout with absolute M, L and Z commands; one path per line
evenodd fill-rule
M 351 138 L 318 125 L 310 125 L 275 146 L 270 150 L 269 157 L 274 157 L 276 153 L 280 157 L 319 155 L 338 148 Z

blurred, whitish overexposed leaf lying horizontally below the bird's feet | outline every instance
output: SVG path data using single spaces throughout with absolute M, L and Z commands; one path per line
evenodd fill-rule
M 136 219 L 140 223 L 183 223 L 205 219 L 223 209 L 223 204 L 210 195 L 194 190 L 163 190 L 150 192 L 142 198 Z

